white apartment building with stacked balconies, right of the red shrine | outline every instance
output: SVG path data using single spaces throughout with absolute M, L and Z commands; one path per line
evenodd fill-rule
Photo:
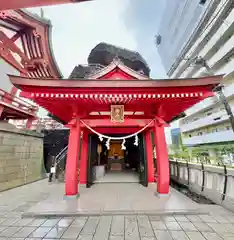
M 182 2 L 188 3 L 189 0 Z M 189 38 L 184 39 L 183 47 L 173 62 L 167 66 L 167 74 L 171 78 L 224 74 L 223 92 L 234 113 L 234 1 L 202 2 L 206 4 L 205 10 L 197 17 L 196 26 Z M 188 21 L 187 26 L 189 24 Z M 186 28 L 181 31 L 186 31 Z M 195 64 L 196 57 L 205 60 L 208 67 Z M 198 103 L 188 109 L 186 114 L 180 120 L 185 145 L 234 143 L 229 117 L 217 96 Z

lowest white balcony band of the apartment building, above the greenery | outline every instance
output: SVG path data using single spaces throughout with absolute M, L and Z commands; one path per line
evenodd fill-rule
M 190 138 L 183 138 L 183 144 L 185 145 L 198 145 L 228 141 L 234 141 L 234 133 L 232 130 L 208 133 L 206 135 L 194 136 Z

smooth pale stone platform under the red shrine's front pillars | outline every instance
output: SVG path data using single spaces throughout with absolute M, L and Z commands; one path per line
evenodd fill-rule
M 40 185 L 41 184 L 41 185 Z M 24 217 L 74 216 L 142 213 L 207 213 L 207 205 L 198 204 L 171 188 L 168 196 L 155 196 L 156 184 L 148 188 L 139 183 L 101 183 L 91 188 L 79 186 L 80 197 L 64 200 L 64 184 L 41 182 L 38 188 L 47 188 L 44 199 L 25 211 Z M 37 187 L 36 184 L 34 184 Z M 33 186 L 33 185 L 32 185 Z

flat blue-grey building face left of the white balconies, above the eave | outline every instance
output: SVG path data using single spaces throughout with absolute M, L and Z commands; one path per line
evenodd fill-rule
M 171 75 L 187 41 L 190 39 L 204 14 L 211 14 L 210 3 L 214 0 L 167 0 L 165 12 L 156 36 L 158 53 L 163 66 Z M 170 51 L 168 51 L 170 49 Z

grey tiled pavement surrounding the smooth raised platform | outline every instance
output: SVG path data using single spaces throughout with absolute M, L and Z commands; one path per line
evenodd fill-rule
M 0 240 L 234 239 L 234 214 L 221 207 L 209 205 L 206 205 L 206 208 L 210 214 L 116 213 L 101 216 L 21 219 L 25 211 L 50 198 L 50 192 L 54 188 L 56 184 L 48 185 L 46 181 L 40 181 L 0 193 Z M 115 188 L 113 190 L 112 192 L 117 191 Z M 150 192 L 150 189 L 145 190 Z M 131 195 L 131 192 L 128 192 L 128 195 Z

